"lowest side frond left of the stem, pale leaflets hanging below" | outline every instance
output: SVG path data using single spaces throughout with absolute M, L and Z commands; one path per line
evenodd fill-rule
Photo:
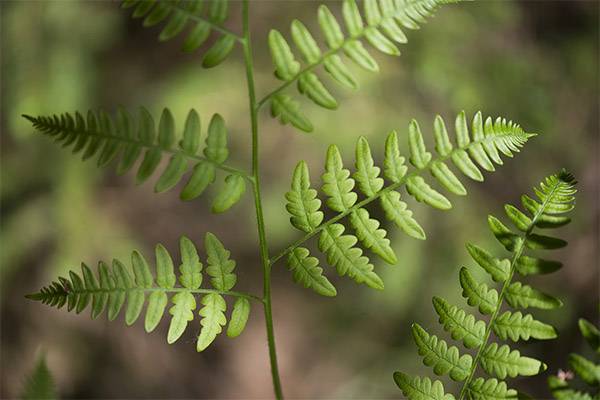
M 229 251 L 211 233 L 206 235 L 206 272 L 212 277 L 210 283 L 214 289 L 200 289 L 203 281 L 202 263 L 194 244 L 185 236 L 180 240 L 181 265 L 179 277 L 175 274 L 173 259 L 161 245 L 156 246 L 156 275 L 152 275 L 144 257 L 137 251 L 131 255 L 132 270 L 135 283 L 130 273 L 119 260 L 114 260 L 112 268 L 103 262 L 98 265 L 100 282 L 85 264 L 81 265 L 83 279 L 74 271 L 69 272 L 70 280 L 59 277 L 39 293 L 28 295 L 32 300 L 41 301 L 50 306 L 61 308 L 68 304 L 68 311 L 77 313 L 85 310 L 92 302 L 92 319 L 97 318 L 107 309 L 108 319 L 114 320 L 126 305 L 127 325 L 133 324 L 141 315 L 144 303 L 146 307 L 145 329 L 152 332 L 164 316 L 169 304 L 171 322 L 167 334 L 167 342 L 173 343 L 181 337 L 188 322 L 194 319 L 196 294 L 202 293 L 200 301 L 204 306 L 200 309 L 202 329 L 198 338 L 198 351 L 204 350 L 227 323 L 224 311 L 226 303 L 224 295 L 235 296 L 234 309 L 230 319 L 227 336 L 239 335 L 250 313 L 248 299 L 262 299 L 245 293 L 232 292 L 236 276 L 232 273 L 235 261 L 229 259 Z M 154 283 L 153 283 L 154 281 Z M 179 282 L 181 285 L 176 286 Z M 169 295 L 171 295 L 169 300 Z

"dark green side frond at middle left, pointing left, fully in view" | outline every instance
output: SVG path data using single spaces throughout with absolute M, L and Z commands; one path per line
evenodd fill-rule
M 24 115 L 33 127 L 53 137 L 57 143 L 67 147 L 72 145 L 73 152 L 83 151 L 83 160 L 98 156 L 98 166 L 108 165 L 118 158 L 123 150 L 117 167 L 119 175 L 129 171 L 145 150 L 144 157 L 135 176 L 136 185 L 141 185 L 152 176 L 163 155 L 170 155 L 169 163 L 154 186 L 156 193 L 164 192 L 181 180 L 189 163 L 196 163 L 193 172 L 181 191 L 182 200 L 191 200 L 202 194 L 206 187 L 215 181 L 215 170 L 229 173 L 225 179 L 221 194 L 215 200 L 213 212 L 223 212 L 235 204 L 245 191 L 243 178 L 251 179 L 247 174 L 224 164 L 229 150 L 225 122 L 219 114 L 214 114 L 208 126 L 208 135 L 203 149 L 204 156 L 198 155 L 200 148 L 200 117 L 190 110 L 183 131 L 183 137 L 176 142 L 176 129 L 173 115 L 165 108 L 161 114 L 158 135 L 154 119 L 143 107 L 140 107 L 137 133 L 129 113 L 122 107 L 117 111 L 116 127 L 108 112 L 101 109 L 98 114 L 89 111 L 87 121 L 80 113 L 75 118 L 69 113 L 60 117 Z

